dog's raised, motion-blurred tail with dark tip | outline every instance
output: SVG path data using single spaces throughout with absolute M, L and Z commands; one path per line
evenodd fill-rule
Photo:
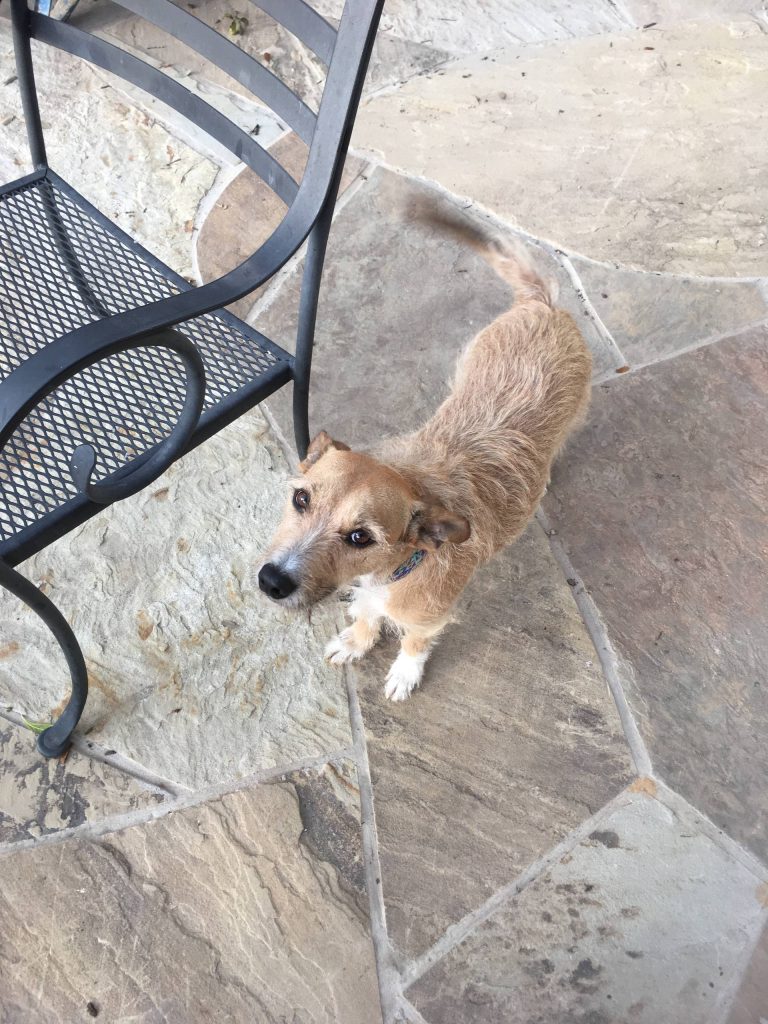
M 543 302 L 554 307 L 557 302 L 557 282 L 542 275 L 521 242 L 486 229 L 437 199 L 421 197 L 415 200 L 409 205 L 408 218 L 429 224 L 474 249 L 511 286 L 516 303 Z

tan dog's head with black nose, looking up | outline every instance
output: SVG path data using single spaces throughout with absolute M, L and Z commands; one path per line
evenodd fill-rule
M 259 570 L 259 587 L 275 601 L 306 607 L 358 577 L 391 573 L 419 548 L 469 537 L 463 516 L 325 431 L 299 470 Z

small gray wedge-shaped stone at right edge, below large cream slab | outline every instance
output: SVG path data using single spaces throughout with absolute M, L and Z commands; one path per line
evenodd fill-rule
M 724 282 L 622 270 L 573 258 L 627 362 L 641 366 L 768 318 L 768 280 Z

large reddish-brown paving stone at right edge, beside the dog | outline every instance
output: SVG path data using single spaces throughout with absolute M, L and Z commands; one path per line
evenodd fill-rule
M 595 389 L 545 507 L 651 760 L 768 854 L 768 328 Z

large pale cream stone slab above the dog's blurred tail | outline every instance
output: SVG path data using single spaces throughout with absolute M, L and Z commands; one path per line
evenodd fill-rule
M 365 103 L 353 145 L 593 259 L 761 275 L 767 87 L 757 22 L 686 23 L 458 60 Z

